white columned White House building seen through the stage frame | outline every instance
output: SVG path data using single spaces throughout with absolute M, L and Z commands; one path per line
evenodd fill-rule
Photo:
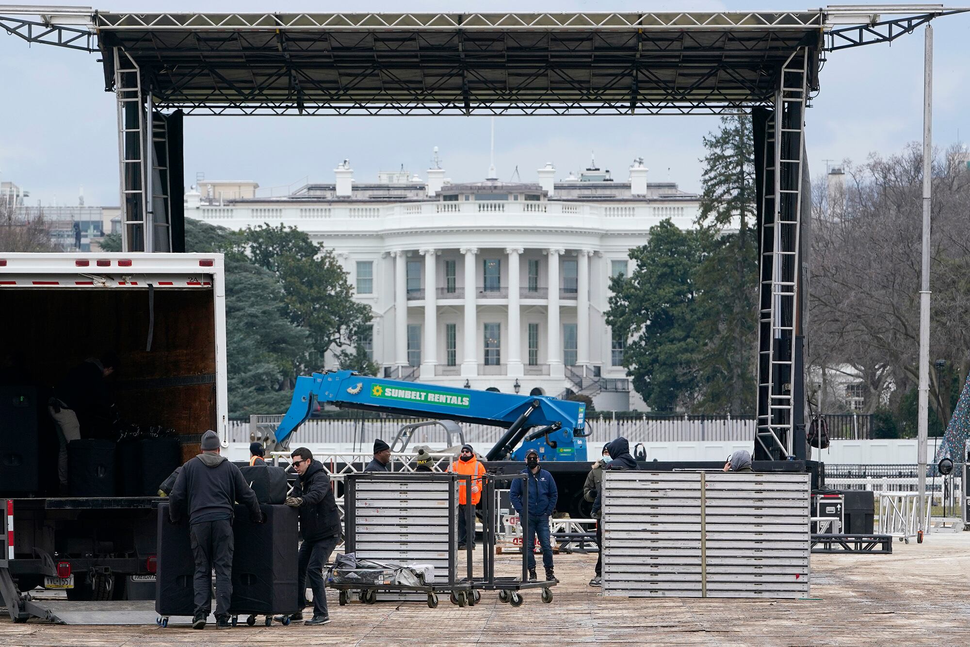
M 438 166 L 436 164 L 436 166 Z M 386 377 L 502 392 L 583 392 L 599 409 L 643 409 L 623 367 L 628 331 L 605 323 L 609 279 L 630 271 L 630 248 L 670 218 L 693 225 L 697 195 L 627 182 L 595 163 L 536 183 L 453 184 L 380 173 L 357 182 L 346 161 L 333 183 L 258 197 L 254 182 L 200 181 L 185 216 L 229 228 L 268 222 L 333 249 L 372 308 L 365 344 Z M 495 175 L 491 172 L 489 175 Z M 538 390 L 538 391 L 534 391 Z

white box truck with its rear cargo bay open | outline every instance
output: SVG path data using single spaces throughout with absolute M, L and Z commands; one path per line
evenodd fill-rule
M 122 420 L 174 430 L 182 460 L 206 429 L 228 442 L 224 302 L 218 254 L 0 253 L 0 595 L 15 621 L 56 619 L 24 595 L 38 586 L 153 596 L 161 499 L 57 494 L 51 387 L 111 351 Z

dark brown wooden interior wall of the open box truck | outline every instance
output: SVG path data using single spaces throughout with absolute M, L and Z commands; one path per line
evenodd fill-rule
M 109 379 L 122 420 L 196 436 L 183 445 L 188 460 L 198 453 L 198 434 L 215 428 L 213 307 L 211 289 L 155 289 L 146 350 L 147 289 L 2 289 L 0 339 L 15 345 L 17 363 L 45 387 L 113 351 L 121 367 Z M 173 385 L 179 378 L 195 384 Z

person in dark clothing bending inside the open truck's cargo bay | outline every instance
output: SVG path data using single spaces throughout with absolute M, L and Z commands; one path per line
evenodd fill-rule
M 112 393 L 106 380 L 117 368 L 118 358 L 106 353 L 101 358 L 87 358 L 67 372 L 54 387 L 48 411 L 57 425 L 60 448 L 57 454 L 57 478 L 67 489 L 67 445 L 73 440 L 105 435 L 104 429 L 117 419 Z

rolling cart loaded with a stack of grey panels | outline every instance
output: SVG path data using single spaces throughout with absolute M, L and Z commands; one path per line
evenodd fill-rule
M 378 592 L 386 599 L 414 600 L 427 596 L 435 608 L 438 595 L 448 594 L 458 606 L 473 605 L 481 594 L 472 589 L 471 542 L 468 542 L 466 577 L 458 572 L 458 486 L 471 477 L 451 473 L 361 472 L 347 474 L 344 485 L 344 552 L 359 560 L 422 563 L 435 567 L 433 582 L 423 586 L 391 583 L 328 581 L 339 591 L 341 605 L 359 592 L 365 604 L 374 604 Z M 468 506 L 468 527 L 474 531 L 474 510 Z M 438 572 L 446 572 L 442 580 Z

